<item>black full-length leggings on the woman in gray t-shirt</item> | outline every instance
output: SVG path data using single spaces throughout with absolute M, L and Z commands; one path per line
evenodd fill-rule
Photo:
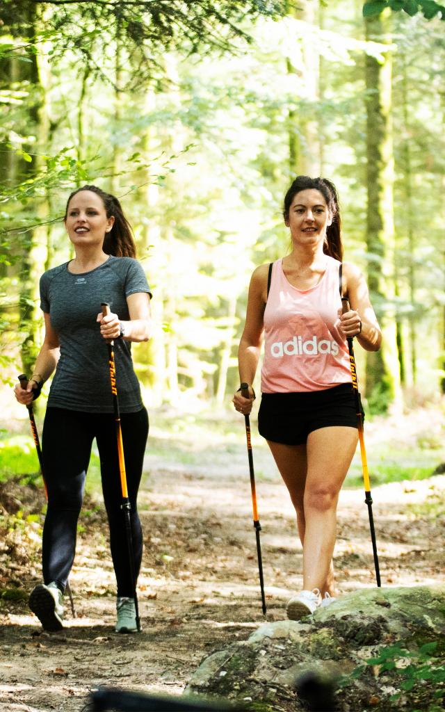
M 137 577 L 142 560 L 142 528 L 136 498 L 148 435 L 146 409 L 121 414 L 121 425 Z M 48 510 L 43 526 L 43 581 L 46 584 L 56 581 L 62 590 L 66 586 L 74 561 L 78 516 L 93 439 L 96 439 L 100 455 L 100 474 L 110 525 L 110 548 L 117 595 L 132 597 L 134 586 L 121 509 L 115 418 L 108 413 L 80 413 L 52 407 L 46 409 L 42 451 Z

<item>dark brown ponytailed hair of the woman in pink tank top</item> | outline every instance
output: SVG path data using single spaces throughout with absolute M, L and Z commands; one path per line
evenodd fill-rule
M 326 241 L 323 245 L 323 252 L 336 260 L 342 261 L 342 221 L 340 218 L 340 204 L 335 185 L 327 178 L 310 178 L 309 176 L 297 176 L 288 189 L 284 197 L 283 217 L 288 222 L 290 205 L 297 193 L 302 190 L 315 189 L 323 195 L 326 205 L 332 215 L 333 221 L 326 230 Z

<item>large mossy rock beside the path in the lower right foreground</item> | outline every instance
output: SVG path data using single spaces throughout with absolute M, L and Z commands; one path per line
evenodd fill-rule
M 261 712 L 308 710 L 315 707 L 302 681 L 312 674 L 320 689 L 323 680 L 335 689 L 332 710 L 433 712 L 445 699 L 444 648 L 444 585 L 357 590 L 302 622 L 265 623 L 215 652 L 186 694 Z

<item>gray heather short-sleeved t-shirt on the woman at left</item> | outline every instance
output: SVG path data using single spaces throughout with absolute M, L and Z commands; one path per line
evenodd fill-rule
M 108 302 L 120 319 L 130 319 L 127 296 L 147 292 L 144 271 L 131 257 L 110 256 L 83 274 L 68 272 L 68 262 L 41 276 L 41 309 L 51 318 L 61 357 L 53 377 L 48 406 L 89 413 L 112 413 L 108 345 L 96 322 Z M 130 342 L 115 340 L 116 384 L 122 413 L 142 408 L 139 382 L 133 370 Z

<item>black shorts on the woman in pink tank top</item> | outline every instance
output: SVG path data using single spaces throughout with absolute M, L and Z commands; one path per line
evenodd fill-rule
M 361 409 L 362 415 L 363 411 Z M 263 438 L 283 445 L 302 445 L 308 434 L 333 425 L 357 428 L 352 383 L 324 391 L 263 393 L 258 431 Z

